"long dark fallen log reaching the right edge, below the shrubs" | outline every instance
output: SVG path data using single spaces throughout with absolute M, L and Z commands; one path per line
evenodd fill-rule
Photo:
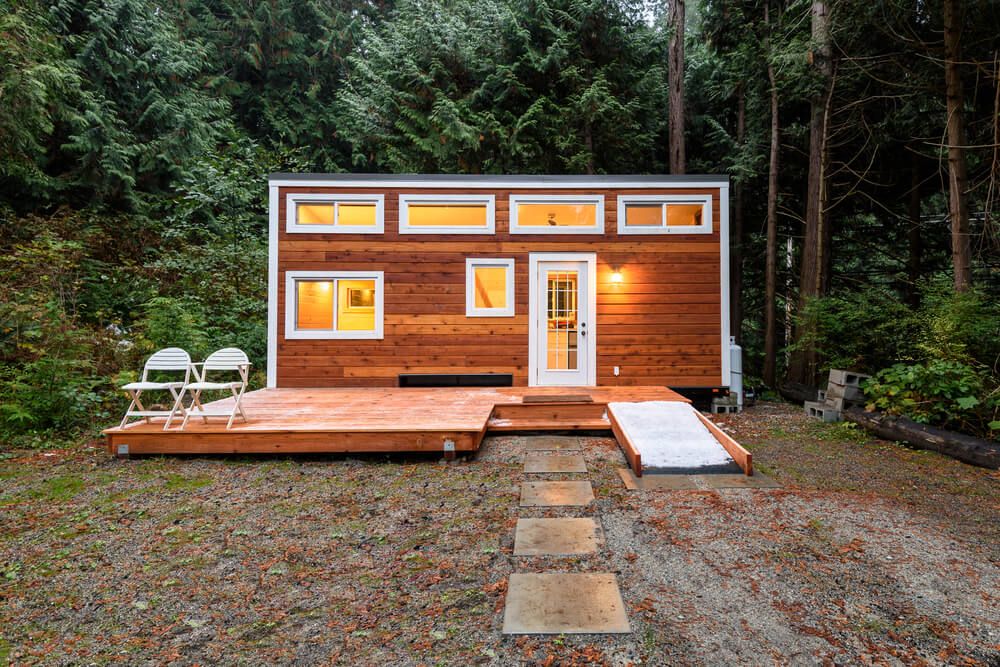
M 965 463 L 1000 470 L 1000 443 L 861 408 L 850 408 L 843 415 L 847 421 L 863 426 L 880 438 L 907 442 L 918 449 L 930 449 Z

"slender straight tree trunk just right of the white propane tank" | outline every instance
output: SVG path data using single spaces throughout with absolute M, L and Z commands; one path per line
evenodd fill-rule
M 767 5 L 764 20 L 769 22 Z M 774 66 L 767 64 L 767 80 L 771 85 L 771 155 L 767 167 L 767 257 L 764 278 L 764 384 L 777 384 L 778 354 L 778 156 L 780 130 L 778 126 L 778 84 Z

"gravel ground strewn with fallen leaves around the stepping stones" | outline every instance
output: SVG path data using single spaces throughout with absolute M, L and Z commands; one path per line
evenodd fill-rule
M 478 457 L 0 460 L 0 664 L 1000 664 L 1000 476 L 758 405 L 777 490 L 519 509 L 522 436 Z M 553 479 L 567 476 L 541 476 Z M 528 516 L 598 554 L 514 559 Z M 634 632 L 502 637 L 515 571 L 618 575 Z

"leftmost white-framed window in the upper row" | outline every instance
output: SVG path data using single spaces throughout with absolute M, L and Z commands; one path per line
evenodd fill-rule
M 285 231 L 296 234 L 381 234 L 385 195 L 289 193 Z

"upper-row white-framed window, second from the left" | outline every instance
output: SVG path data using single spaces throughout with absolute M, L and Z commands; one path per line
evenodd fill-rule
M 399 195 L 400 234 L 492 234 L 493 195 Z

